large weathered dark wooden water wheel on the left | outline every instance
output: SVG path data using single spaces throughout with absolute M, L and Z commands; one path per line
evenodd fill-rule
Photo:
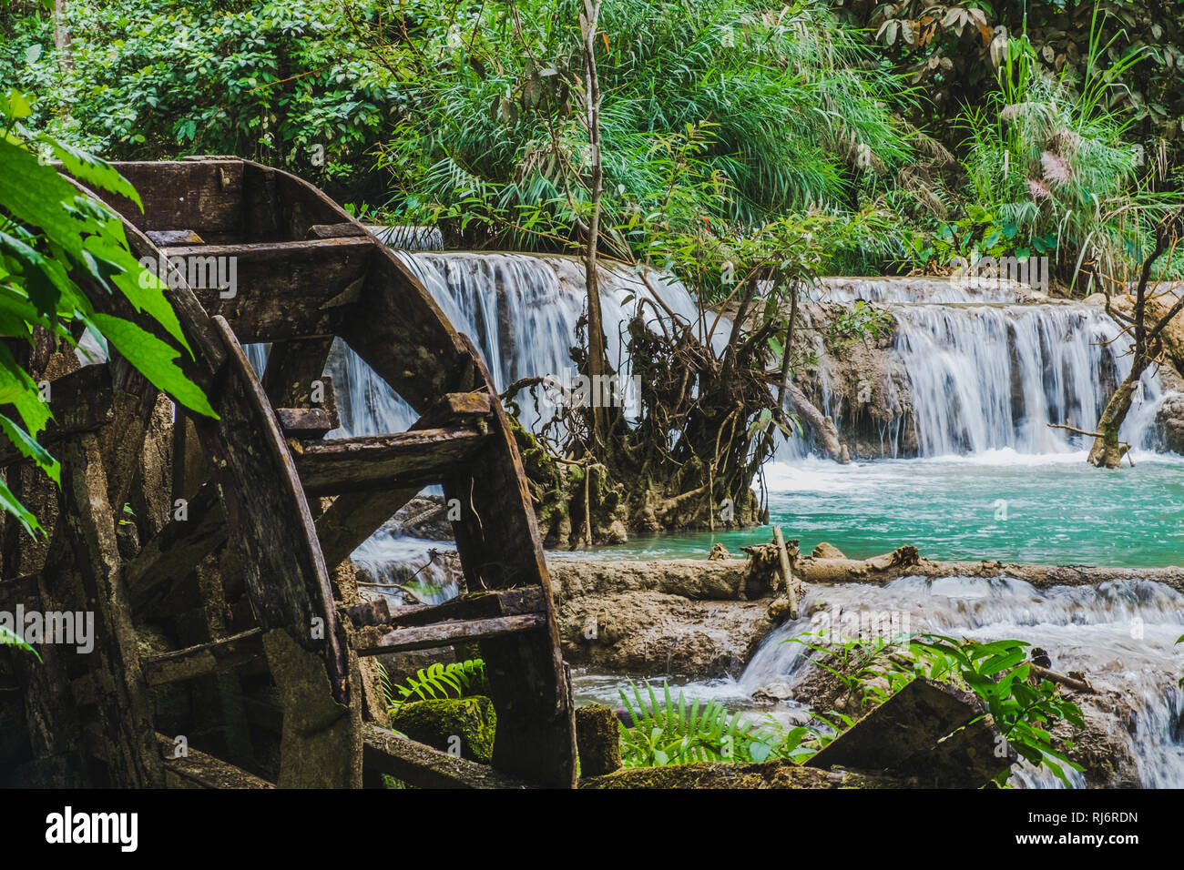
M 9 485 L 50 533 L 38 543 L 5 524 L 0 607 L 90 611 L 96 639 L 90 653 L 43 645 L 43 663 L 5 653 L 11 782 L 355 787 L 387 773 L 572 786 L 571 689 L 542 547 L 471 342 L 392 251 L 290 174 L 233 157 L 116 168 L 144 204 L 108 198 L 136 257 L 233 258 L 233 295 L 191 286 L 192 269 L 174 271 L 169 290 L 193 348 L 182 368 L 219 419 L 178 406 L 174 421 L 121 359 L 26 355 L 50 385 L 45 442 L 63 485 L 0 450 Z M 159 334 L 122 296 L 90 296 Z M 335 336 L 420 414 L 408 431 L 324 439 L 336 425 L 323 376 Z M 251 342 L 272 343 L 262 380 L 242 348 Z M 167 450 L 154 450 L 160 431 Z M 469 592 L 393 611 L 342 600 L 337 566 L 432 483 L 459 505 Z M 480 644 L 485 660 L 491 768 L 385 730 L 359 664 L 457 643 Z M 269 729 L 278 736 L 263 750 Z

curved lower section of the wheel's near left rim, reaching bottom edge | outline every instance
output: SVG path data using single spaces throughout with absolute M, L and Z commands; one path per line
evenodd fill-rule
M 284 705 L 281 786 L 358 787 L 361 692 L 308 502 L 263 387 L 230 324 L 226 366 L 199 434 L 221 484 L 232 543 Z M 323 689 L 322 689 L 323 685 Z

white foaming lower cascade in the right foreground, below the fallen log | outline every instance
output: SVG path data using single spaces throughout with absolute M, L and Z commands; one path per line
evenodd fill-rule
M 1101 729 L 1107 742 L 1133 760 L 1130 775 L 1138 785 L 1184 787 L 1184 690 L 1177 684 L 1184 672 L 1184 649 L 1175 644 L 1184 624 L 1180 593 L 1132 580 L 1049 589 L 1006 578 L 817 586 L 803 600 L 802 617 L 765 639 L 734 689 L 751 696 L 781 684 L 792 692 L 815 665 L 806 647 L 787 639 L 818 631 L 821 614 L 839 611 L 903 614 L 914 633 L 1015 638 L 1044 649 L 1053 670 L 1088 676 L 1099 692 L 1094 696 L 1099 713 L 1090 716 L 1087 710 L 1087 724 Z M 1128 704 L 1128 711 L 1115 700 Z M 1079 701 L 1085 709 L 1090 698 L 1079 696 Z M 1064 769 L 1074 785 L 1085 785 L 1081 774 Z M 1027 762 L 1016 771 L 1018 785 L 1060 784 L 1051 772 Z

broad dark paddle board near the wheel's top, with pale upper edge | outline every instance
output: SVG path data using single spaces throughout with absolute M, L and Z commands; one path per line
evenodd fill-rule
M 348 316 L 367 276 L 371 256 L 378 250 L 372 238 L 274 241 L 240 245 L 165 247 L 168 257 L 179 257 L 193 275 L 211 275 L 211 264 L 227 258 L 221 266 L 229 275 L 234 268 L 236 285 L 192 290 L 211 315 L 225 317 L 244 343 L 283 341 L 333 335 L 336 324 Z M 365 318 L 363 318 L 365 320 Z

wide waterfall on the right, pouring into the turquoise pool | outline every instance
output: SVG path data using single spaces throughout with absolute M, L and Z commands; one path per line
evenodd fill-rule
M 1099 307 L 1054 302 L 1010 282 L 966 285 L 941 278 L 828 278 L 819 302 L 875 302 L 895 320 L 887 352 L 900 387 L 888 380 L 881 401 L 894 417 L 881 427 L 881 456 L 905 453 L 915 436 L 918 456 L 1081 450 L 1083 437 L 1056 423 L 1093 430 L 1118 384 L 1131 370 L 1130 336 Z M 823 412 L 841 424 L 824 359 Z M 1156 447 L 1156 410 L 1165 391 L 1144 373 L 1124 440 Z M 798 453 L 800 455 L 800 449 Z M 791 455 L 784 458 L 792 458 Z

